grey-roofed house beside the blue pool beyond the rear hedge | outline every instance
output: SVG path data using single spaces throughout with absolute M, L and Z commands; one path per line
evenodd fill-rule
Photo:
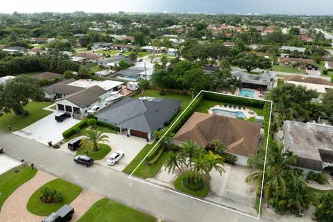
M 255 75 L 248 74 L 245 71 L 232 71 L 231 74 L 241 80 L 242 87 L 250 89 L 270 90 L 277 80 L 275 74 L 270 72 Z

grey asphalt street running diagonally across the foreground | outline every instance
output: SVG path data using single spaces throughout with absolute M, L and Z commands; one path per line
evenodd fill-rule
M 187 196 L 146 185 L 126 173 L 99 164 L 85 168 L 74 164 L 73 156 L 29 139 L 0 130 L 0 146 L 6 155 L 33 162 L 35 167 L 94 191 L 112 200 L 165 221 L 257 221 L 237 212 L 194 200 Z M 260 221 L 268 221 L 260 219 Z

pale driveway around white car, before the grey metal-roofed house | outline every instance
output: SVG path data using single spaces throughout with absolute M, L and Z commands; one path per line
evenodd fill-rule
M 123 171 L 123 169 L 134 159 L 134 157 L 137 156 L 137 154 L 147 144 L 146 139 L 139 137 L 127 137 L 126 134 L 119 135 L 114 133 L 105 133 L 105 135 L 108 135 L 109 137 L 109 142 L 106 144 L 108 144 L 112 148 L 112 150 L 108 155 L 106 155 L 104 159 L 97 160 L 96 163 L 108 166 L 106 164 L 106 159 L 108 158 L 108 156 L 116 151 L 123 151 L 125 155 L 121 158 L 121 160 L 114 166 L 108 166 L 112 169 L 116 169 L 117 171 Z M 60 150 L 75 155 L 76 151 L 69 150 L 67 146 L 68 143 L 62 144 L 60 146 Z

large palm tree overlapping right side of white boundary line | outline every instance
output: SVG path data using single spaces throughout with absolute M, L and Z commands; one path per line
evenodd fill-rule
M 282 196 L 287 194 L 287 182 L 295 182 L 295 172 L 289 165 L 296 164 L 297 155 L 293 153 L 282 153 L 282 146 L 275 142 L 269 142 L 266 159 L 266 170 L 264 171 L 265 149 L 260 148 L 259 153 L 248 160 L 248 164 L 257 168 L 259 171 L 246 178 L 246 182 L 255 182 L 260 190 L 262 178 L 264 177 L 264 195 L 267 199 L 273 193 L 280 192 Z

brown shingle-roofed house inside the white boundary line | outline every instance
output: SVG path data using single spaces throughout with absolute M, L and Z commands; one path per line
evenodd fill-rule
M 225 152 L 237 157 L 237 164 L 247 166 L 248 157 L 257 153 L 261 128 L 260 123 L 194 112 L 173 140 L 178 145 L 192 140 L 199 146 L 210 148 L 212 140 L 219 139 L 226 146 Z

